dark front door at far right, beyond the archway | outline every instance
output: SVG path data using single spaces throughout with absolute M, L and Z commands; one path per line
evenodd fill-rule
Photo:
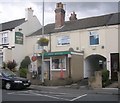
M 118 80 L 119 53 L 111 53 L 111 79 Z

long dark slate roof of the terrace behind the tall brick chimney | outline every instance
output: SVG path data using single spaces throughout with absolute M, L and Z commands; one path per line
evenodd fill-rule
M 66 21 L 61 29 L 55 29 L 55 23 L 48 24 L 44 26 L 44 34 L 80 30 L 80 29 L 87 29 L 87 28 L 107 26 L 107 25 L 108 26 L 118 25 L 120 24 L 120 20 L 118 20 L 118 15 L 120 15 L 120 13 L 112 13 L 102 16 L 78 19 L 74 21 Z M 42 35 L 42 29 L 39 29 L 38 31 L 34 32 L 29 36 L 37 36 L 37 35 Z

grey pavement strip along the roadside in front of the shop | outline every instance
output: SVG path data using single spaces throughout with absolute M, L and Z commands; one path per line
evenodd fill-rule
M 77 90 L 82 91 L 86 93 L 94 93 L 94 94 L 110 94 L 110 95 L 119 95 L 120 96 L 120 89 L 118 88 L 96 88 L 91 89 L 87 86 L 80 86 L 77 87 L 76 85 L 66 85 L 66 86 L 41 86 L 41 85 L 31 85 L 30 89 L 34 90 L 58 90 L 58 89 L 71 89 L 71 90 Z

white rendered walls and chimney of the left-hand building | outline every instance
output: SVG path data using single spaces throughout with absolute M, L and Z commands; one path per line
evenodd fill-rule
M 9 39 L 9 47 L 15 46 L 12 50 L 4 49 L 3 50 L 3 60 L 4 61 L 12 61 L 15 60 L 18 63 L 18 67 L 21 61 L 24 59 L 25 56 L 28 56 L 33 52 L 33 45 L 36 42 L 36 39 L 31 39 L 30 41 L 27 40 L 28 35 L 32 34 L 33 32 L 39 30 L 41 28 L 41 24 L 36 16 L 33 16 L 32 8 L 26 9 L 25 12 L 25 22 L 13 29 L 12 31 L 8 32 L 8 39 Z M 20 30 L 21 29 L 21 30 Z M 24 35 L 23 44 L 15 44 L 15 32 L 21 32 Z M 29 41 L 29 43 L 28 43 Z M 32 48 L 32 49 L 31 49 Z

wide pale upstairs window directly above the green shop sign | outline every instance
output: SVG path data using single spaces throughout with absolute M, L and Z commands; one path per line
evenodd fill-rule
M 70 37 L 69 36 L 59 36 L 57 37 L 57 45 L 68 45 L 70 44 Z

